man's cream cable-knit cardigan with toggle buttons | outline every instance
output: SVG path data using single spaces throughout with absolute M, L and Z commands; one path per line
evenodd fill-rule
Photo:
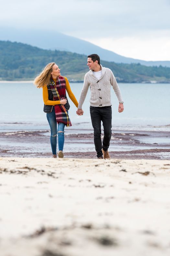
M 80 94 L 78 108 L 82 108 L 82 105 L 85 101 L 88 88 L 90 86 L 91 96 L 90 96 L 90 106 L 92 107 L 105 107 L 111 106 L 111 95 L 110 87 L 113 86 L 113 89 L 116 93 L 119 102 L 122 102 L 122 96 L 117 84 L 116 78 L 114 77 L 112 71 L 109 68 L 102 67 L 102 75 L 99 80 L 94 76 L 93 71 L 89 70 L 85 74 L 83 89 Z

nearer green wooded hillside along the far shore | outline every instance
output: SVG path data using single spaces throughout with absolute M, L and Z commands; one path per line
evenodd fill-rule
M 87 56 L 58 50 L 43 50 L 22 43 L 0 41 L 0 79 L 33 79 L 49 62 L 56 62 L 70 80 L 82 81 L 88 71 Z M 141 64 L 116 64 L 101 61 L 110 68 L 118 82 L 170 82 L 170 68 Z

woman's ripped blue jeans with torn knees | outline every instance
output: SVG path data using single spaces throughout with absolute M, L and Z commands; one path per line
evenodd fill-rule
M 56 155 L 57 154 L 57 134 L 58 134 L 58 149 L 63 151 L 65 124 L 59 123 L 58 129 L 57 129 L 57 121 L 55 117 L 54 107 L 52 108 L 51 113 L 47 113 L 47 120 L 49 122 L 50 130 L 51 130 L 50 143 L 51 143 L 52 154 Z

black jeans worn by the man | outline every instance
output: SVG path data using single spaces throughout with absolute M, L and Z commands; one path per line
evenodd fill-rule
M 112 127 L 112 108 L 108 107 L 92 107 L 90 106 L 90 116 L 94 129 L 94 143 L 97 152 L 97 157 L 103 155 L 104 151 L 108 150 L 111 139 L 111 127 Z M 101 121 L 103 122 L 104 137 L 103 144 L 101 141 Z

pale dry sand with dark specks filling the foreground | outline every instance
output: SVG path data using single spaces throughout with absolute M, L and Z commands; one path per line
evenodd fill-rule
M 169 256 L 170 161 L 0 158 L 1 256 Z

